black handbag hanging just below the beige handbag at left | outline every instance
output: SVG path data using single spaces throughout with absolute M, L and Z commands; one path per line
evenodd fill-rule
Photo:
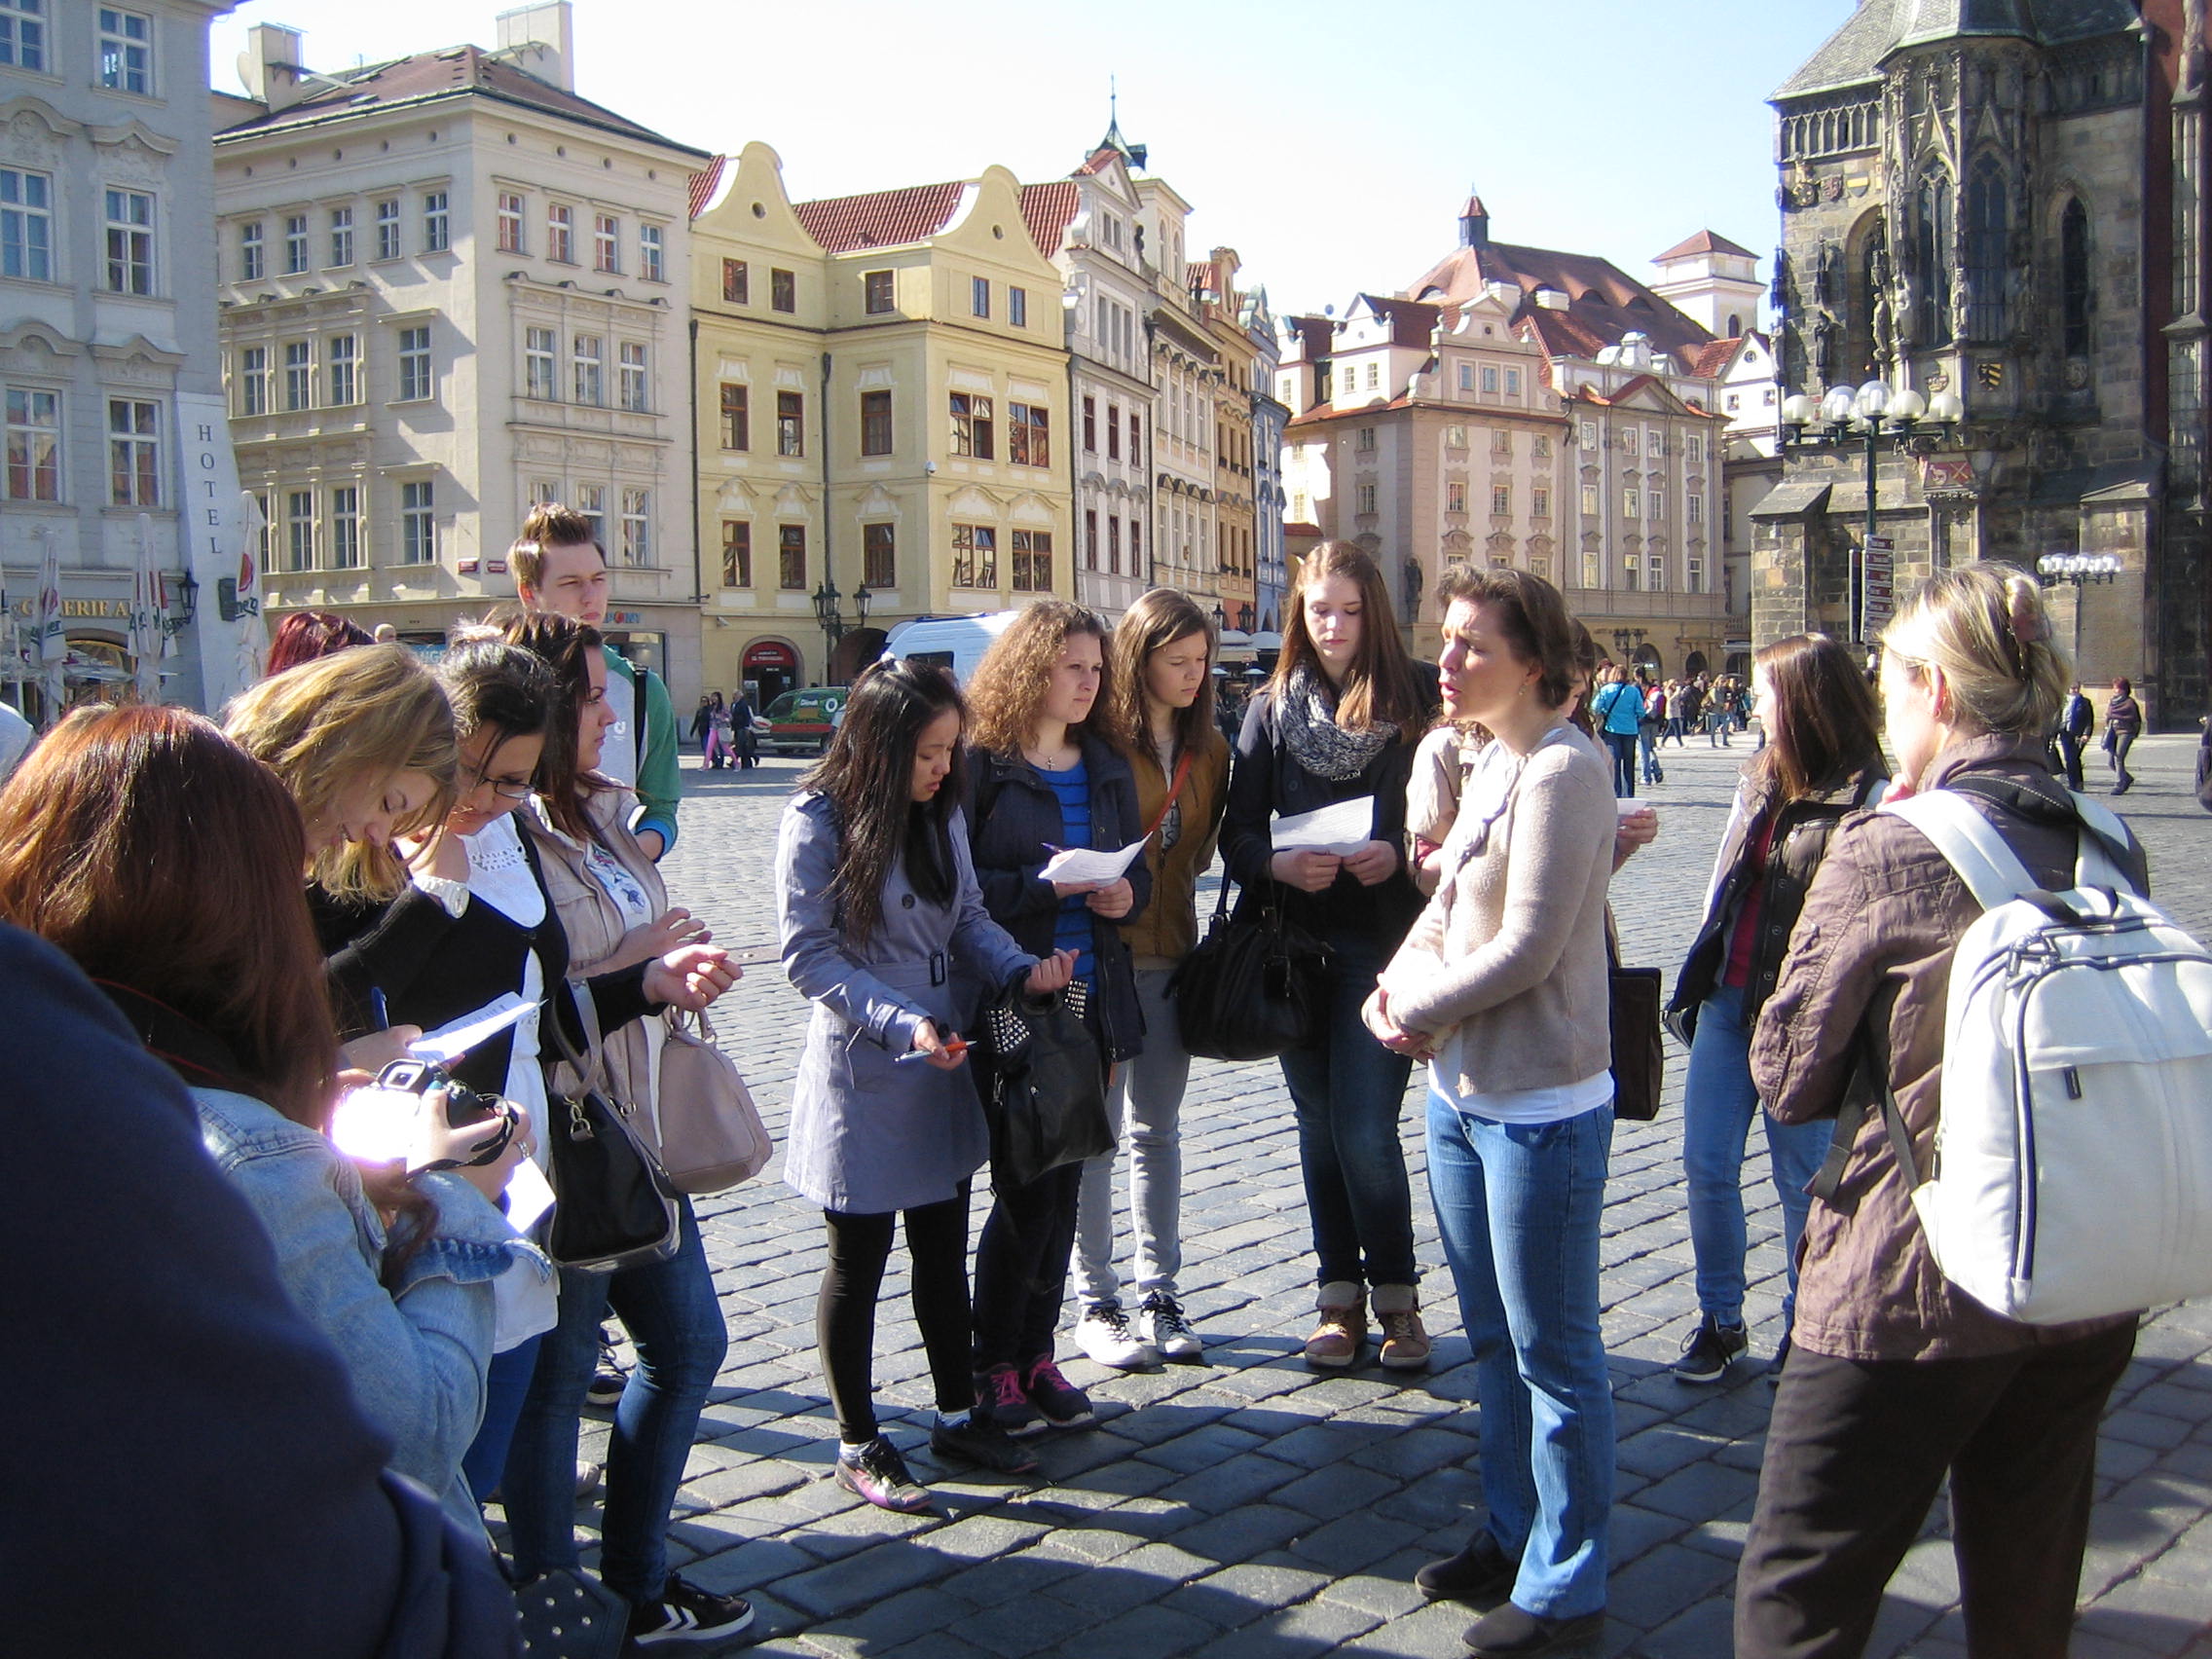
M 630 1126 L 637 1110 L 599 1088 L 606 1051 L 593 1031 L 591 993 L 575 995 L 575 1009 L 591 1037 L 591 1060 L 582 1060 L 551 1006 L 544 1022 L 575 1073 L 573 1093 L 549 1093 L 544 1144 L 553 1214 L 544 1252 L 562 1267 L 617 1272 L 668 1261 L 677 1252 L 681 1208 L 677 1190 L 653 1148 Z

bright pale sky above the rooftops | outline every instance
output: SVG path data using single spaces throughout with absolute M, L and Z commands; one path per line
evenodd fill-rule
M 1121 131 L 1279 312 L 1405 288 L 1473 184 L 1500 241 L 1635 276 L 1694 230 L 1772 254 L 1772 111 L 1854 0 L 577 0 L 577 91 L 703 150 L 765 139 L 796 199 L 971 177 L 1040 181 Z M 498 42 L 498 4 L 248 0 L 334 71 Z M 1765 265 L 1761 265 L 1761 274 Z

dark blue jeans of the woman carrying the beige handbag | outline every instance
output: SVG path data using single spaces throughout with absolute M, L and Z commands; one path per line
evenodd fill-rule
M 668 1588 L 668 1511 L 699 1431 L 706 1391 L 730 1347 L 690 1199 L 668 1261 L 615 1274 L 560 1272 L 560 1323 L 544 1334 L 515 1442 L 507 1453 L 507 1526 L 515 1575 L 575 1566 L 575 1442 L 584 1387 L 613 1307 L 637 1345 L 606 1449 L 599 1577 L 630 1601 Z

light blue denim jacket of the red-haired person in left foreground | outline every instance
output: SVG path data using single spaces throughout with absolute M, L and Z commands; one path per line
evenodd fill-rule
M 553 1270 L 458 1175 L 420 1175 L 431 1239 L 392 1290 L 385 1228 L 354 1164 L 327 1137 L 226 1088 L 192 1088 L 199 1137 L 276 1243 L 285 1292 L 345 1360 L 363 1413 L 392 1436 L 392 1467 L 482 1526 L 460 1458 L 484 1416 L 495 1281 L 551 1285 Z

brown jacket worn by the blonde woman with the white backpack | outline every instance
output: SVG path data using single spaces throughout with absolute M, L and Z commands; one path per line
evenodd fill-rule
M 2064 787 L 2044 765 L 2042 739 L 1973 737 L 1927 768 L 1920 790 L 1980 774 L 2026 794 L 2011 810 L 1980 794 L 2028 872 L 2073 887 L 2077 830 Z M 2130 874 L 2143 880 L 2141 847 Z M 1752 1079 L 1785 1124 L 1834 1117 L 1871 1029 L 1889 1055 L 1889 1086 L 1927 1172 L 1936 1150 L 1951 953 L 1980 916 L 1933 843 L 1896 816 L 1860 812 L 1829 838 L 1798 914 L 1781 982 L 1752 1037 Z M 1814 1203 L 1798 1256 L 1792 1340 L 1847 1360 L 1953 1360 L 2070 1343 L 2132 1321 L 2020 1325 L 2000 1318 L 1936 1267 L 1889 1150 L 1869 1110 L 1829 1203 Z

